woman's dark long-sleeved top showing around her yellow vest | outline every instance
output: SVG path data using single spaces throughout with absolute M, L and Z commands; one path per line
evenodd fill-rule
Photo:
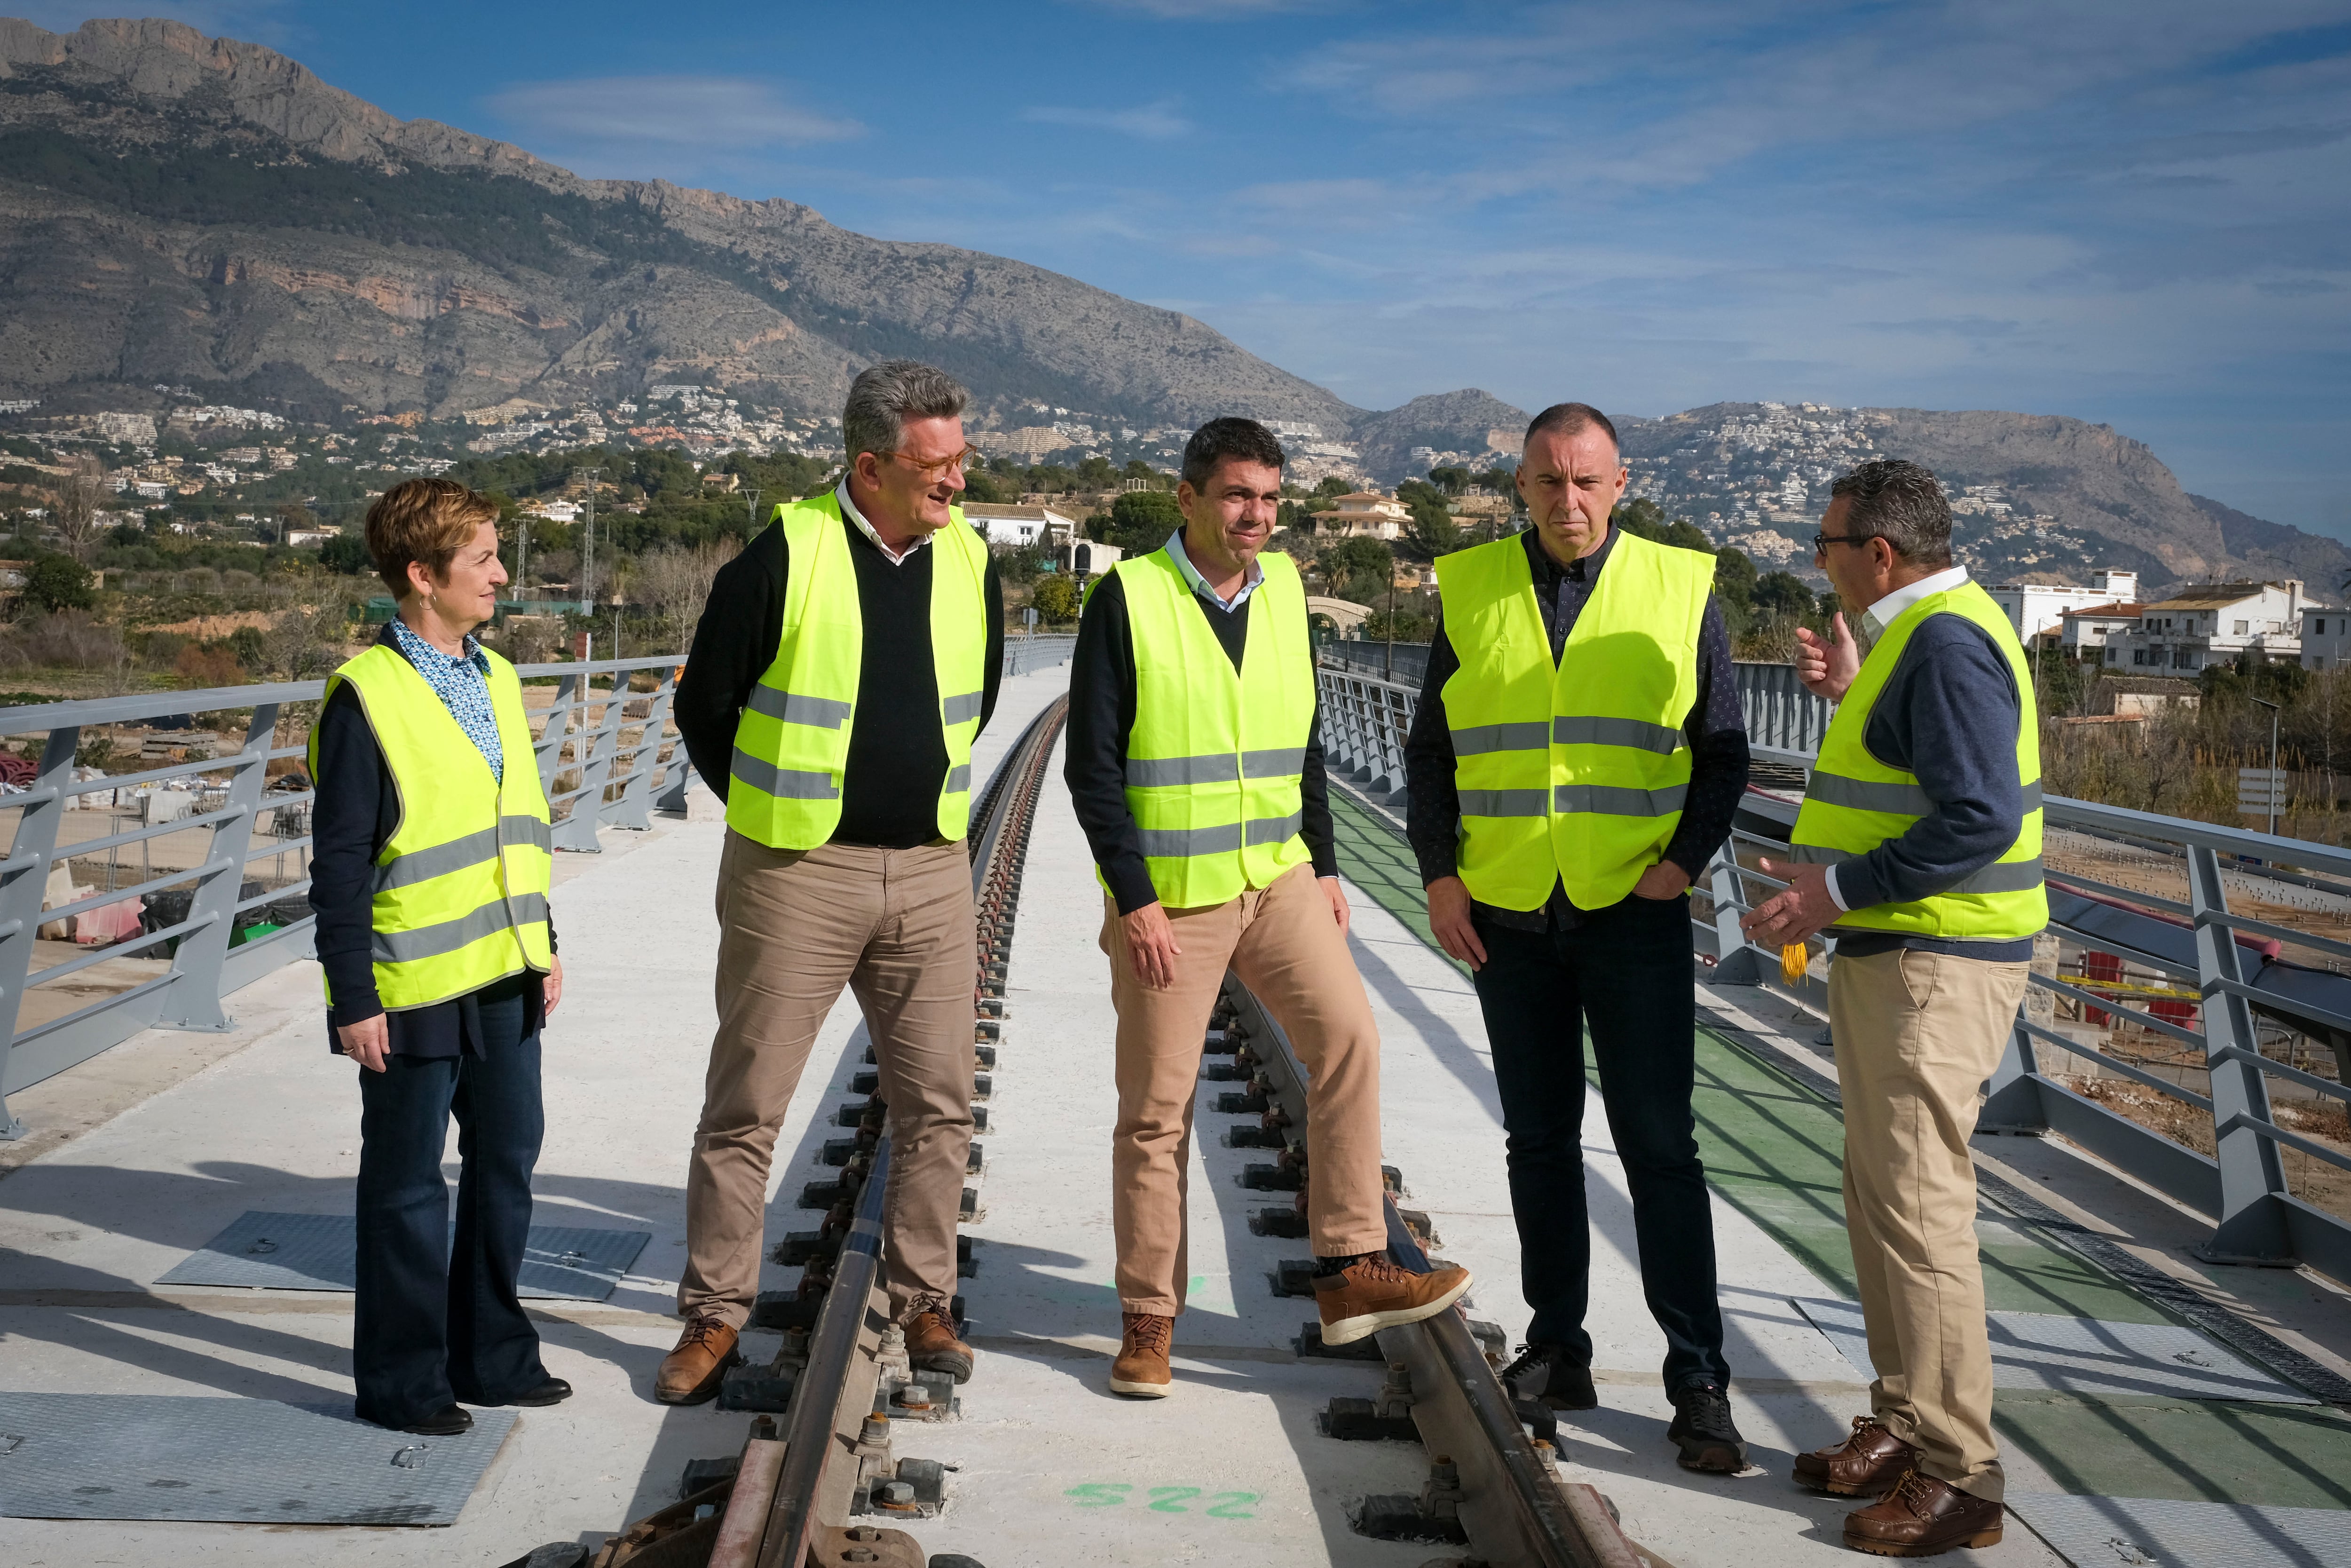
M 393 628 L 379 646 L 400 649 Z M 402 654 L 404 656 L 404 654 Z M 470 745 L 470 743 L 468 743 Z M 538 766 L 531 752 L 505 766 Z M 327 971 L 334 1006 L 327 1009 L 327 1048 L 336 1048 L 334 1025 L 364 1023 L 383 1011 L 374 966 L 376 858 L 400 832 L 400 790 L 376 731 L 367 724 L 350 682 L 334 689 L 317 715 L 317 802 L 310 806 L 310 912 L 317 914 L 317 961 Z M 555 917 L 548 914 L 548 947 Z M 522 1034 L 545 1018 L 538 973 L 524 978 Z M 475 997 L 393 1013 L 386 1023 L 393 1056 L 480 1056 L 482 1018 Z

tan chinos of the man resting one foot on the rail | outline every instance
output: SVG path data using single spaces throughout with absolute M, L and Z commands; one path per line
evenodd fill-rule
M 1119 1124 L 1110 1135 L 1112 1225 L 1119 1244 L 1119 1307 L 1176 1316 L 1187 1269 L 1185 1199 L 1192 1171 L 1192 1107 L 1208 1013 L 1230 966 L 1284 1027 L 1305 1060 L 1307 1229 L 1319 1258 L 1387 1248 L 1380 1185 L 1380 1032 L 1347 936 L 1312 865 L 1272 886 L 1197 910 L 1168 910 L 1176 983 L 1152 990 L 1136 976 L 1126 924 L 1103 900 L 1110 1001 L 1119 1011 Z

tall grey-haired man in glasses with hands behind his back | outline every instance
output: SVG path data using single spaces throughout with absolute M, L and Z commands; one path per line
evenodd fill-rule
M 686 1331 L 654 1385 L 701 1403 L 741 1361 L 769 1161 L 816 1032 L 865 1011 L 891 1171 L 884 1288 L 917 1368 L 971 1378 L 955 1225 L 971 1152 L 971 741 L 997 703 L 1004 595 L 955 505 L 966 393 L 912 360 L 849 388 L 839 487 L 778 505 L 719 569 L 677 729 L 726 802 L 719 1027 L 686 1164 Z

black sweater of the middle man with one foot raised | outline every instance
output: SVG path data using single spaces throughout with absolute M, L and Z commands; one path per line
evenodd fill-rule
M 1258 595 L 1248 595 L 1239 609 L 1230 611 L 1223 604 L 1208 604 L 1197 592 L 1192 604 L 1208 618 L 1225 656 L 1239 670 Z M 1063 759 L 1063 780 L 1070 785 L 1077 825 L 1086 830 L 1093 863 L 1103 870 L 1103 882 L 1110 884 L 1119 914 L 1159 903 L 1152 872 L 1143 860 L 1143 830 L 1136 827 L 1136 813 L 1126 809 L 1126 736 L 1133 726 L 1136 635 L 1126 618 L 1126 585 L 1112 574 L 1093 585 L 1086 616 L 1077 623 L 1077 654 L 1070 658 L 1070 752 Z M 1307 853 L 1314 858 L 1314 875 L 1338 877 L 1338 851 L 1331 844 L 1331 780 L 1324 773 L 1321 750 L 1321 703 L 1317 703 L 1314 726 L 1307 731 L 1298 804 L 1298 837 L 1305 839 Z

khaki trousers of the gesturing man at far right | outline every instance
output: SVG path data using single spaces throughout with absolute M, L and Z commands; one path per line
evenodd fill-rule
M 1871 1413 L 1918 1469 L 2001 1500 L 1991 1340 L 1968 1138 L 2029 964 L 1895 950 L 1829 964 L 1846 1100 L 1846 1232 L 1869 1328 Z

